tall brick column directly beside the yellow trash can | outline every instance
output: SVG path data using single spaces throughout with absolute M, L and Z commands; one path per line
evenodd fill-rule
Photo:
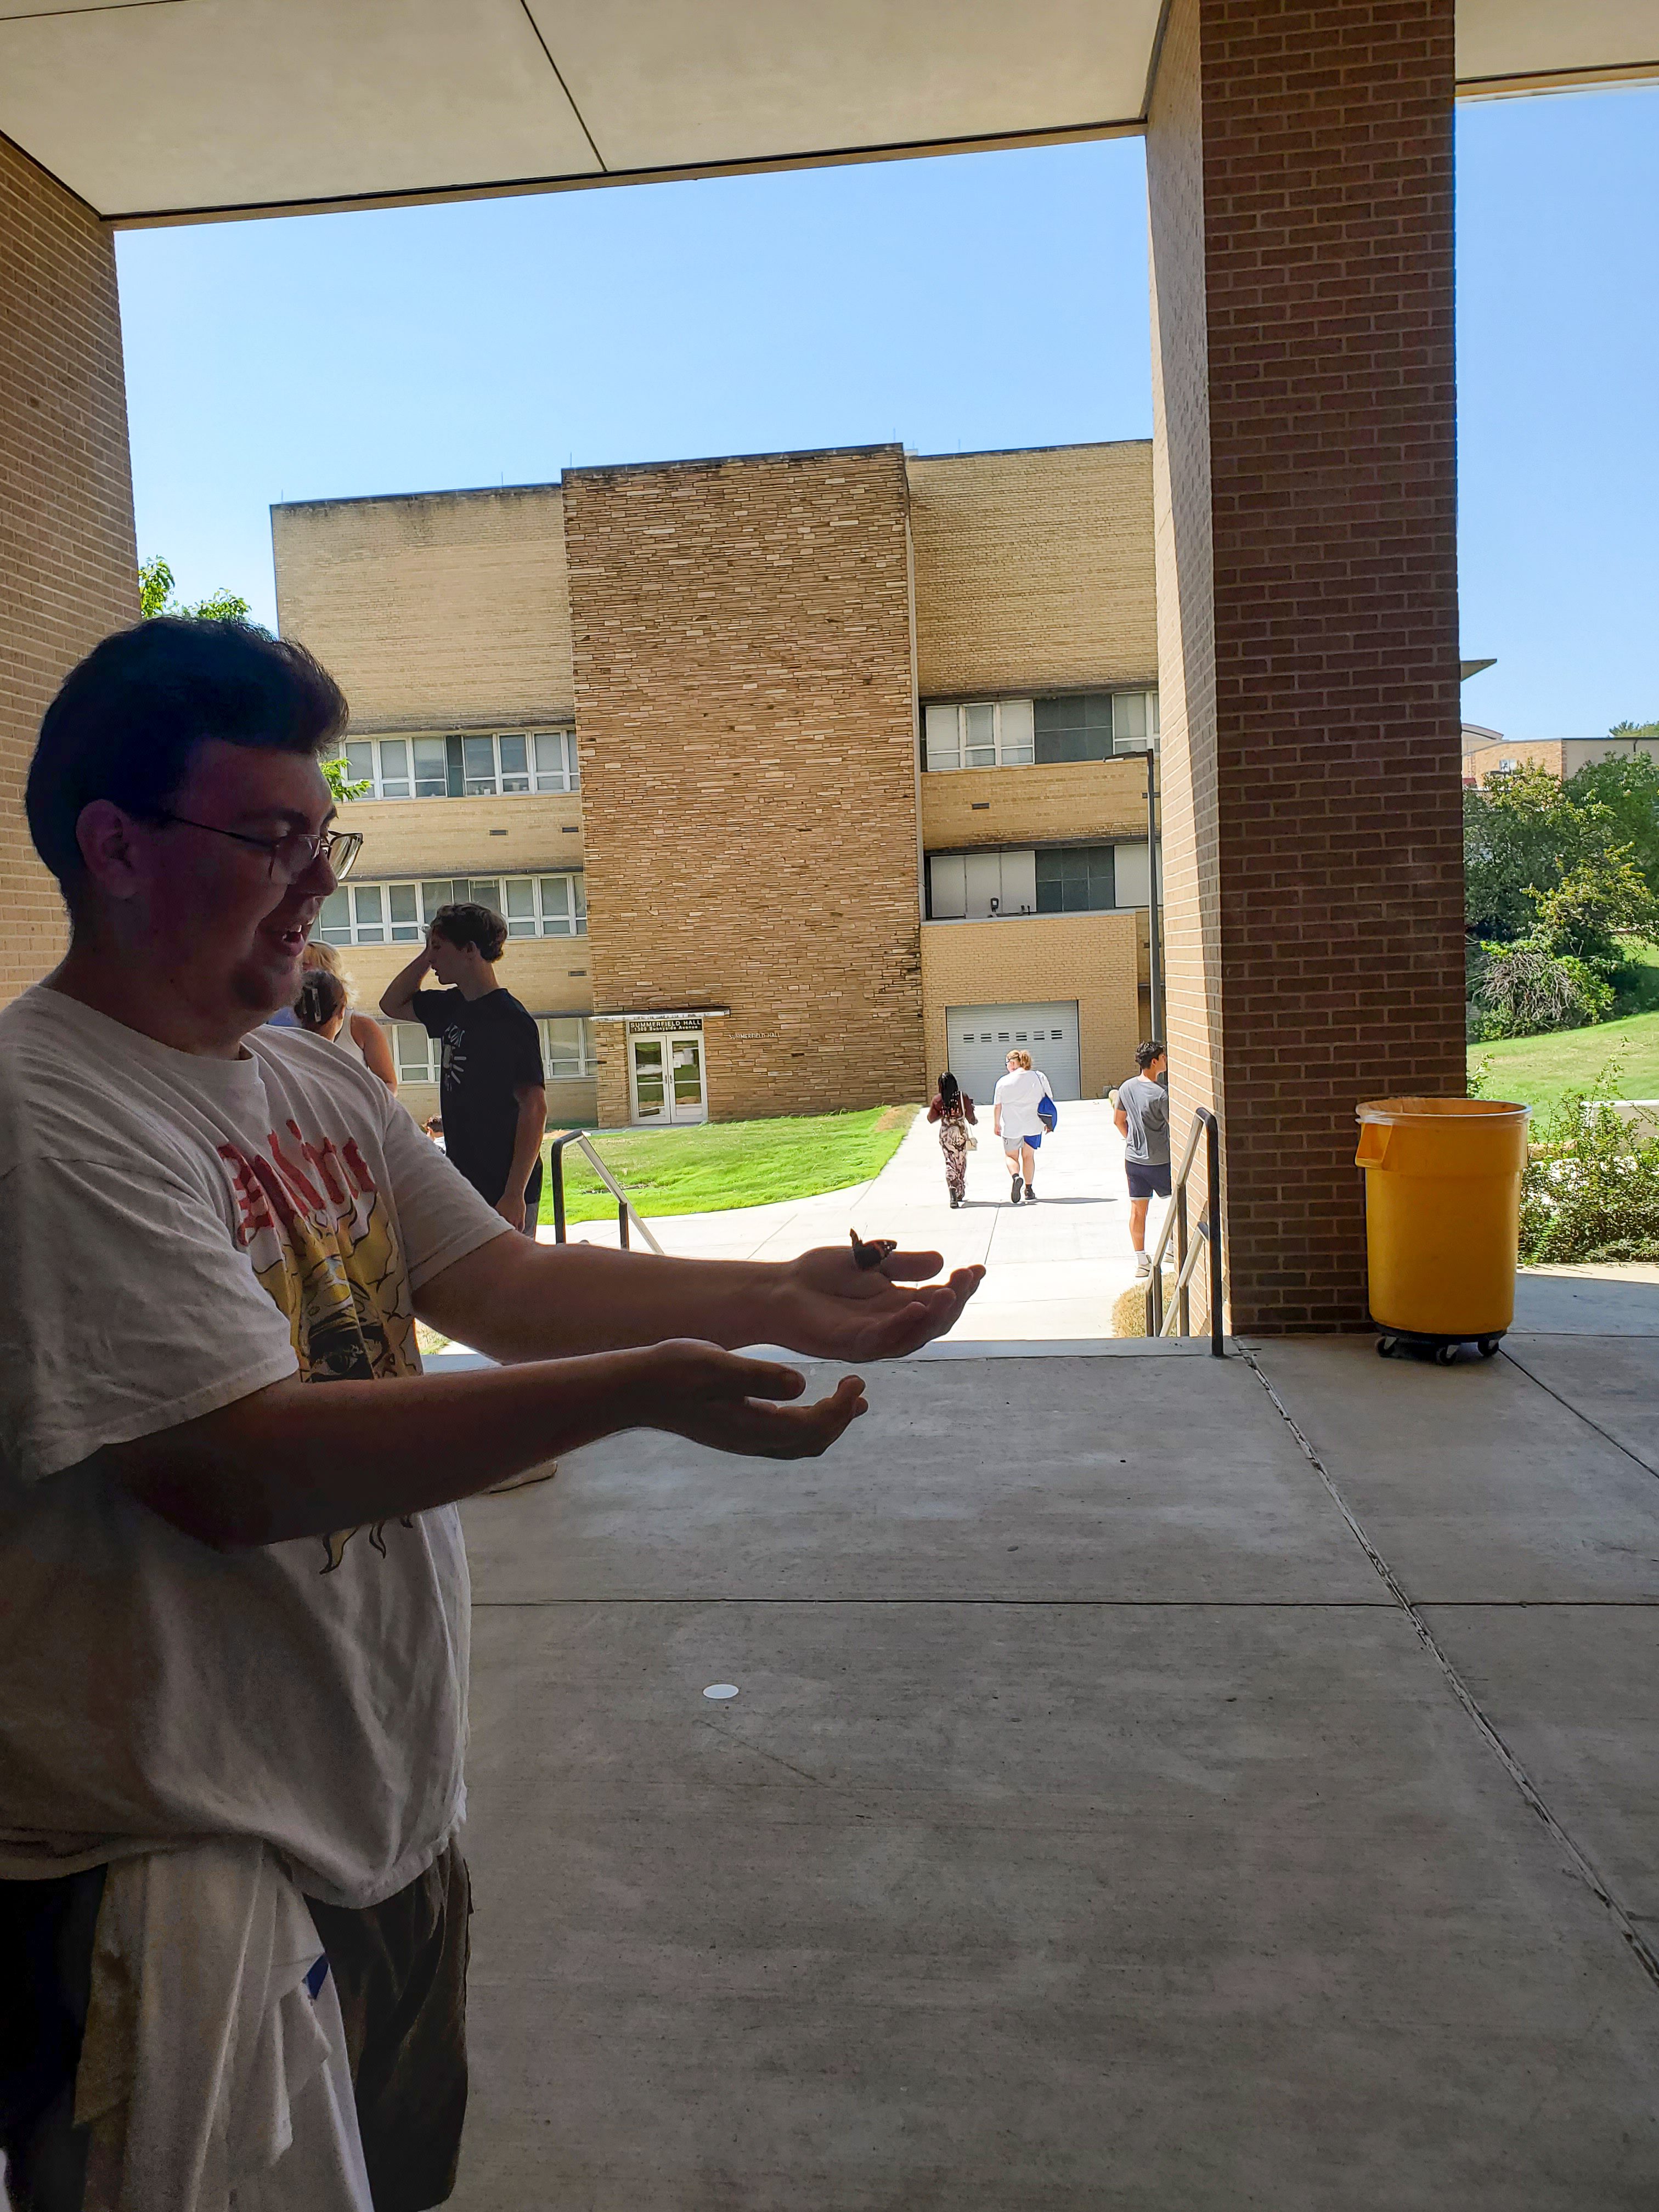
M 1168 1026 L 1239 1332 L 1365 1318 L 1354 1102 L 1462 1093 L 1453 0 L 1172 0 L 1148 119 Z

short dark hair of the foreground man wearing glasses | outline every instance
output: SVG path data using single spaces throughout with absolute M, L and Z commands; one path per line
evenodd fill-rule
M 345 692 L 327 668 L 250 622 L 159 615 L 117 630 L 71 668 L 46 708 L 24 796 L 29 836 L 69 894 L 86 872 L 75 823 L 93 799 L 155 821 L 206 739 L 316 757 L 345 719 Z

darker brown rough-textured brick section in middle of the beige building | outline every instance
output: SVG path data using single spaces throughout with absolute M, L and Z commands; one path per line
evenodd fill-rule
M 573 469 L 564 535 L 595 1006 L 730 1006 L 712 1119 L 922 1097 L 902 451 Z

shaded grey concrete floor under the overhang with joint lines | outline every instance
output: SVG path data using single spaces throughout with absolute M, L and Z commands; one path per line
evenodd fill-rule
M 1659 1347 L 1511 1349 L 902 1363 L 469 1506 L 456 2205 L 1652 2208 Z

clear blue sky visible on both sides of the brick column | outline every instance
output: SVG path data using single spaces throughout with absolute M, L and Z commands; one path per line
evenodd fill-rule
M 1464 712 L 1659 717 L 1659 91 L 1458 122 Z M 117 239 L 139 549 L 272 619 L 272 500 L 1150 436 L 1137 139 Z

